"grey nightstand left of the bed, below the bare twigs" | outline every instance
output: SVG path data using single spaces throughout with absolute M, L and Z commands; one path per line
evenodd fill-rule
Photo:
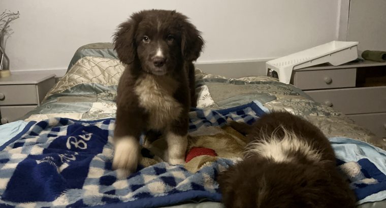
M 26 74 L 0 78 L 1 123 L 9 123 L 35 109 L 55 84 L 55 75 Z

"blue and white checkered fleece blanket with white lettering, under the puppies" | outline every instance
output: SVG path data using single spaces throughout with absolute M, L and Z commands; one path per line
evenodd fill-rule
M 189 131 L 221 126 L 228 118 L 251 123 L 262 114 L 255 102 L 220 111 L 197 109 L 189 115 Z M 119 180 L 111 169 L 113 129 L 113 119 L 53 118 L 28 123 L 0 147 L 0 206 L 156 207 L 203 198 L 220 201 L 216 176 L 232 160 L 219 158 L 196 173 L 161 162 L 139 167 L 126 180 Z M 343 170 L 352 170 L 344 158 L 340 159 L 340 167 L 347 164 Z M 386 190 L 386 168 L 374 160 L 368 162 L 353 161 L 359 171 L 351 176 L 351 185 L 360 199 Z

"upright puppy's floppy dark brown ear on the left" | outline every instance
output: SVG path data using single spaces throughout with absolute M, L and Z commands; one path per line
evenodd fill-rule
M 114 33 L 114 49 L 118 54 L 119 60 L 125 64 L 134 61 L 137 54 L 135 41 L 138 23 L 141 21 L 141 13 L 135 13 L 126 22 L 118 26 Z

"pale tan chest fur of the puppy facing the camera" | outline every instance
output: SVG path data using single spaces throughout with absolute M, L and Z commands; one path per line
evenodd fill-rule
M 139 105 L 149 114 L 148 128 L 163 129 L 178 119 L 182 106 L 173 97 L 176 88 L 177 82 L 168 77 L 156 79 L 145 75 L 137 81 L 134 91 Z

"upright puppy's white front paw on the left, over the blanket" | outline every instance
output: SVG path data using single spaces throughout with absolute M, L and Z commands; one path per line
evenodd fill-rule
M 114 147 L 113 169 L 118 178 L 126 178 L 137 170 L 139 143 L 133 136 L 124 136 L 115 139 Z

